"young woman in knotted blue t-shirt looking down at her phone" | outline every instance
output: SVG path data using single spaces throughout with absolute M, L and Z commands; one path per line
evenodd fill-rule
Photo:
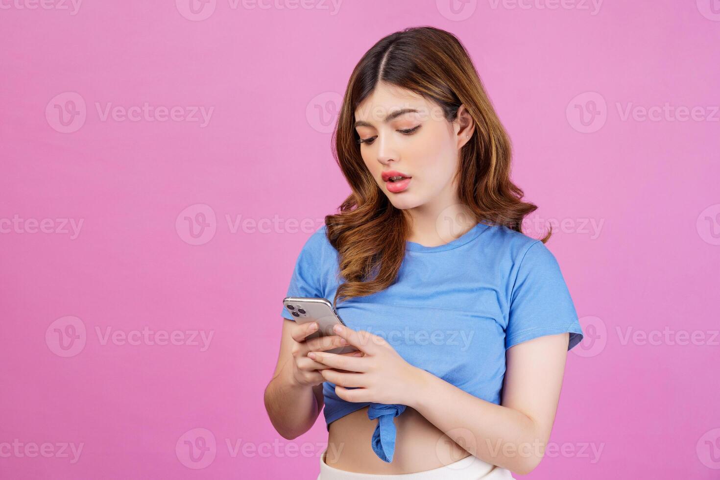
M 283 308 L 265 404 L 287 439 L 325 407 L 318 479 L 512 479 L 544 454 L 567 350 L 582 340 L 554 255 L 524 235 L 510 141 L 444 30 L 377 42 L 333 135 L 352 189 L 302 248 L 287 296 L 347 327 L 307 340 Z M 325 350 L 350 343 L 360 351 Z

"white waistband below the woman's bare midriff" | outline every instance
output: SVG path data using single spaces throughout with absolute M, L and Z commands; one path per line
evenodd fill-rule
M 513 479 L 509 470 L 480 460 L 476 456 L 467 456 L 448 465 L 432 470 L 416 471 L 413 474 L 377 475 L 360 474 L 353 471 L 339 470 L 325 463 L 325 453 L 320 456 L 320 476 L 318 480 L 478 480 L 478 479 Z

